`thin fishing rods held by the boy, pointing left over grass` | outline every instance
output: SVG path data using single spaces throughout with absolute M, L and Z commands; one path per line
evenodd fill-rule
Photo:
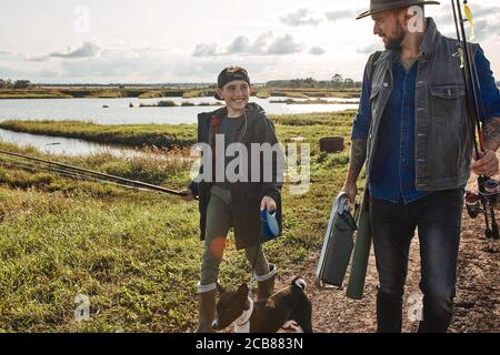
M 26 165 L 27 163 L 17 163 L 18 166 L 23 165 L 24 169 L 37 170 L 37 168 L 38 168 L 38 170 L 46 170 L 48 172 L 54 172 L 54 173 L 58 173 L 61 175 L 64 175 L 64 174 L 69 175 L 68 178 L 76 178 L 76 179 L 83 178 L 83 180 L 92 179 L 93 181 L 112 183 L 112 184 L 126 186 L 126 187 L 134 187 L 137 190 L 157 191 L 157 192 L 161 192 L 161 193 L 172 194 L 176 196 L 186 196 L 186 194 L 180 191 L 166 189 L 162 186 L 149 184 L 149 183 L 137 181 L 137 180 L 130 180 L 130 179 L 120 178 L 120 176 L 116 176 L 116 175 L 111 175 L 111 174 L 107 174 L 107 173 L 101 173 L 98 171 L 83 169 L 83 168 L 79 168 L 79 166 L 74 166 L 74 165 L 63 164 L 63 163 L 59 163 L 59 162 L 54 162 L 54 161 L 49 161 L 49 160 L 34 158 L 34 156 L 30 156 L 30 155 L 26 155 L 26 154 L 20 154 L 20 153 L 13 153 L 13 152 L 9 152 L 9 151 L 4 151 L 4 150 L 0 150 L 0 154 L 4 154 L 8 156 L 14 156 L 18 159 L 24 159 L 31 163 L 41 163 L 41 164 L 47 164 L 49 166 L 49 168 L 40 168 L 40 166 L 34 166 L 33 164 Z M 14 165 L 16 163 L 10 162 L 10 164 Z M 21 168 L 21 166 L 19 166 L 19 168 Z M 62 170 L 60 168 L 62 168 Z M 68 170 L 70 170 L 70 171 L 68 171 Z M 73 171 L 73 172 L 71 172 L 71 171 Z M 114 180 L 116 182 L 110 182 L 109 180 Z M 132 185 L 132 186 L 130 186 L 130 185 Z

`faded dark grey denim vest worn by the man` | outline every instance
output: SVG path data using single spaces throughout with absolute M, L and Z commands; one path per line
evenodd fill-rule
M 470 176 L 472 139 L 466 111 L 466 85 L 457 40 L 441 36 L 432 19 L 420 47 L 416 83 L 416 186 L 440 191 L 463 186 Z M 469 44 L 473 63 L 478 44 Z M 379 134 L 379 123 L 389 101 L 392 60 L 387 50 L 373 63 L 371 75 L 371 124 L 367 142 L 367 181 Z M 371 67 L 370 64 L 368 65 Z

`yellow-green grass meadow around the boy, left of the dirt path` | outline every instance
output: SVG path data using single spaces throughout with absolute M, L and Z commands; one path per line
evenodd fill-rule
M 281 141 L 301 135 L 316 144 L 327 133 L 347 135 L 352 115 L 351 112 L 273 119 Z M 167 128 L 154 125 L 139 126 L 138 131 L 151 133 L 156 129 L 167 132 Z M 174 126 L 168 129 L 171 134 Z M 149 159 L 116 159 L 107 154 L 54 158 L 10 144 L 0 144 L 0 149 L 58 159 L 173 189 L 189 181 L 188 168 L 179 161 L 163 166 Z M 264 246 L 268 258 L 279 265 L 281 275 L 291 276 L 286 273 L 289 267 L 320 248 L 331 200 L 341 187 L 347 164 L 346 152 L 326 154 L 313 148 L 309 193 L 293 195 L 292 183 L 286 183 L 284 234 Z M 198 217 L 196 203 L 170 195 L 0 168 L 0 329 L 192 329 L 202 253 Z M 220 273 L 221 282 L 228 287 L 250 280 L 243 254 L 229 243 Z M 89 322 L 74 320 L 77 294 L 90 298 Z

